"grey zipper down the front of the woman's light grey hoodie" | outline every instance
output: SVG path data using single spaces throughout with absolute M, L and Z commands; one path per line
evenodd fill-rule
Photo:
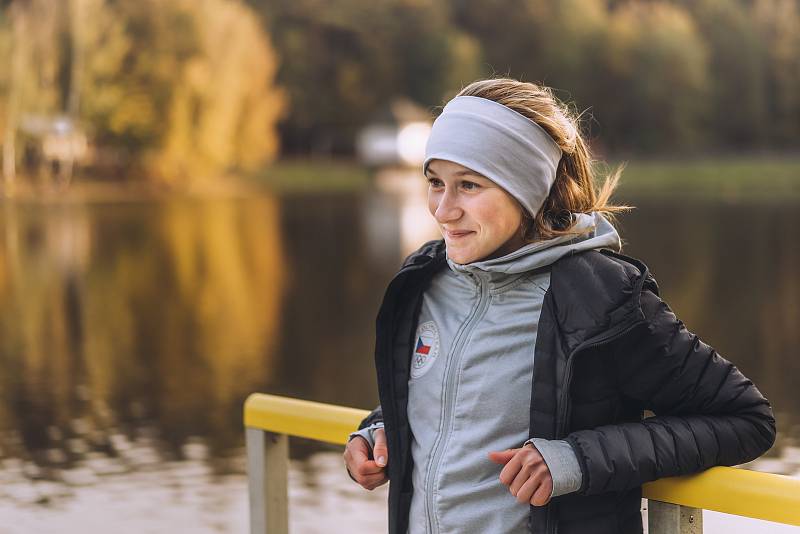
M 461 361 L 461 353 L 464 349 L 465 340 L 468 337 L 467 334 L 472 329 L 474 323 L 483 316 L 484 312 L 486 311 L 486 303 L 489 302 L 489 299 L 487 298 L 488 291 L 485 290 L 484 281 L 480 278 L 480 276 L 476 276 L 476 278 L 478 280 L 478 303 L 472 310 L 470 317 L 464 323 L 461 331 L 458 333 L 458 337 L 453 343 L 453 351 L 451 352 L 452 357 L 448 358 L 448 365 L 445 368 L 445 386 L 442 395 L 442 421 L 439 426 L 439 435 L 436 437 L 436 441 L 433 444 L 431 458 L 428 461 L 428 473 L 425 477 L 425 512 L 427 516 L 429 534 L 436 534 L 438 532 L 438 528 L 436 528 L 436 521 L 434 521 L 434 490 L 436 476 L 439 472 L 439 462 L 442 459 L 445 445 L 450 437 L 448 429 L 450 428 L 450 420 L 453 417 L 457 393 L 456 386 L 458 384 L 456 381 L 456 376 L 458 374 L 458 364 Z

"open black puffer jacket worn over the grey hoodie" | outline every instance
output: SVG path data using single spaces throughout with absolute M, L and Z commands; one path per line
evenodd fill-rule
M 375 362 L 389 447 L 389 532 L 405 534 L 413 491 L 406 416 L 409 360 L 422 294 L 446 268 L 444 243 L 408 257 L 377 319 Z M 769 402 L 736 367 L 690 333 L 658 297 L 641 262 L 609 251 L 552 265 L 540 316 L 531 437 L 565 439 L 583 484 L 531 507 L 530 531 L 642 532 L 641 485 L 736 465 L 775 440 Z M 643 419 L 644 410 L 656 415 Z M 498 481 L 499 484 L 499 481 Z

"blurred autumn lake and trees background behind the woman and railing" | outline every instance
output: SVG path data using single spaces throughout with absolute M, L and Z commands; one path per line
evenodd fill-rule
M 627 163 L 624 251 L 800 476 L 800 0 L 4 0 L 0 533 L 245 532 L 245 397 L 375 405 L 431 121 L 500 75 Z M 340 454 L 292 441 L 293 532 L 385 529 Z

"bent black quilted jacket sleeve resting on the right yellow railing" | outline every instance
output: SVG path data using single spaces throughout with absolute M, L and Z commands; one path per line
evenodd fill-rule
M 654 292 L 642 291 L 641 307 L 645 325 L 610 349 L 622 394 L 655 416 L 567 436 L 584 474 L 581 494 L 744 463 L 775 441 L 772 409 L 753 383 Z

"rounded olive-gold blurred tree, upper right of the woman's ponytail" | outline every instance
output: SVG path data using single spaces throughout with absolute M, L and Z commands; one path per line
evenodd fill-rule
M 684 9 L 658 1 L 622 5 L 611 15 L 605 51 L 595 116 L 611 148 L 704 146 L 708 52 Z

